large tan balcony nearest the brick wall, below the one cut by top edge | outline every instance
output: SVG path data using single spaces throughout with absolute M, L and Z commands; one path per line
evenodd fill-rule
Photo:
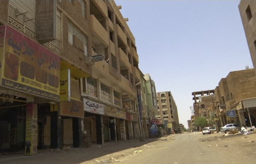
M 105 28 L 99 23 L 97 18 L 91 14 L 91 32 L 92 32 L 92 43 L 97 48 L 105 48 L 109 46 L 109 35 Z

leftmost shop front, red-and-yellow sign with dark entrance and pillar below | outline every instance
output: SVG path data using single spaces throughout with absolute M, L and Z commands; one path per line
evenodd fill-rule
M 7 25 L 0 27 L 1 151 L 37 154 L 44 140 L 39 104 L 59 101 L 59 77 L 59 56 Z

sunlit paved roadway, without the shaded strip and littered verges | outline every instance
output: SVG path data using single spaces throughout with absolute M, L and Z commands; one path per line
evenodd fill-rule
M 252 156 L 241 154 L 241 147 L 232 145 L 230 140 L 221 141 L 220 145 L 217 138 L 204 142 L 208 136 L 182 134 L 173 140 L 157 142 L 119 164 L 256 164 L 256 152 Z

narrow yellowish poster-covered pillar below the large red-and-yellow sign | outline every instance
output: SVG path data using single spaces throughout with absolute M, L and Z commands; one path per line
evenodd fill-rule
M 26 155 L 37 154 L 37 104 L 26 106 Z

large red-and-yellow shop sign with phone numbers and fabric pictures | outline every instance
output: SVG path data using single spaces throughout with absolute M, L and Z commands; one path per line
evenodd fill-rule
M 59 56 L 7 25 L 0 31 L 0 85 L 59 101 Z

